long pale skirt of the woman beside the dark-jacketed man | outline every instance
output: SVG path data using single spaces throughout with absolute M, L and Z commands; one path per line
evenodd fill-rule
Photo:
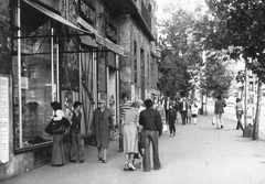
M 124 152 L 138 153 L 138 130 L 134 123 L 124 125 Z

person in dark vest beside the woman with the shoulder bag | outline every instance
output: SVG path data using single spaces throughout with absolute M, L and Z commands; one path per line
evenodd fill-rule
M 71 126 L 70 126 L 70 137 L 71 137 L 71 149 L 70 149 L 70 162 L 75 163 L 78 156 L 80 163 L 84 162 L 84 148 L 81 138 L 81 108 L 82 102 L 74 102 L 74 110 L 71 113 Z

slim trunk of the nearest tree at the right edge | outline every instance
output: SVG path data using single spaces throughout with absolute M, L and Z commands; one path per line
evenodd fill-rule
M 255 120 L 254 120 L 253 140 L 258 140 L 261 100 L 262 100 L 262 83 L 258 79 L 258 82 L 257 82 L 257 102 L 256 102 L 256 113 L 255 113 Z

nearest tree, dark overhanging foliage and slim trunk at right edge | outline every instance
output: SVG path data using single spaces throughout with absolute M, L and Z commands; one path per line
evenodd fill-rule
M 206 43 L 221 50 L 233 46 L 231 57 L 243 57 L 258 78 L 253 139 L 258 139 L 261 85 L 265 82 L 265 2 L 262 0 L 205 0 L 218 24 Z

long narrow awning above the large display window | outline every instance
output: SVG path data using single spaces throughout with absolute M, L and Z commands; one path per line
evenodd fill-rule
M 40 12 L 42 12 L 42 13 L 46 14 L 47 17 L 52 18 L 53 20 L 57 21 L 57 22 L 61 22 L 61 23 L 63 23 L 65 25 L 68 25 L 71 28 L 73 28 L 73 29 L 80 30 L 80 31 L 82 31 L 84 33 L 89 33 L 89 34 L 92 33 L 92 32 L 89 32 L 87 30 L 83 30 L 83 29 L 74 25 L 70 21 L 67 21 L 64 18 L 62 18 L 61 15 L 59 15 L 59 14 L 56 14 L 56 13 L 54 13 L 54 12 L 47 10 L 47 9 L 45 9 L 44 7 L 38 4 L 38 3 L 33 2 L 33 1 L 29 1 L 29 0 L 23 0 L 23 1 L 26 2 L 29 6 L 33 7 L 34 9 L 39 10 Z

